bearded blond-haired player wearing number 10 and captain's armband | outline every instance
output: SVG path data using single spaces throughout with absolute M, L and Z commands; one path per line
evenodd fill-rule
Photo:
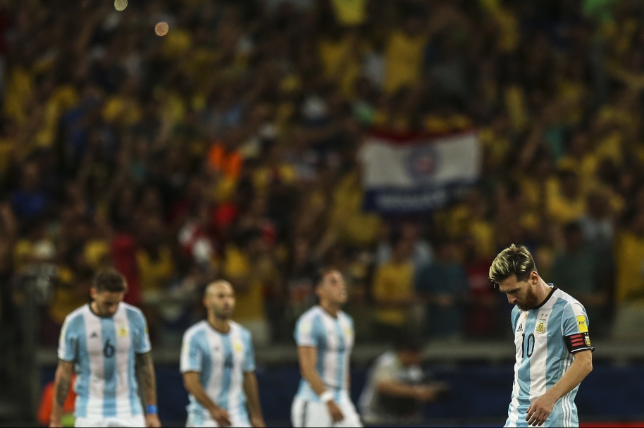
M 588 316 L 580 302 L 541 279 L 526 247 L 510 245 L 490 279 L 512 310 L 516 362 L 506 427 L 578 427 L 574 399 L 593 369 Z

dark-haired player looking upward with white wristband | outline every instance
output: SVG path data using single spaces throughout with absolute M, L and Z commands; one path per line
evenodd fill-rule
M 315 281 L 320 304 L 304 312 L 295 326 L 302 381 L 293 400 L 293 427 L 361 427 L 349 398 L 349 357 L 353 320 L 340 308 L 347 285 L 337 269 L 322 269 Z

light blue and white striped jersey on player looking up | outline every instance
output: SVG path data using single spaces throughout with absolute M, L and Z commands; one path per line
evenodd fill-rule
M 334 318 L 320 306 L 311 307 L 297 320 L 295 342 L 297 346 L 312 346 L 317 350 L 316 371 L 322 383 L 335 393 L 348 391 L 349 358 L 354 344 L 353 319 L 345 312 L 338 312 Z M 299 383 L 297 398 L 305 401 L 319 401 L 309 382 Z

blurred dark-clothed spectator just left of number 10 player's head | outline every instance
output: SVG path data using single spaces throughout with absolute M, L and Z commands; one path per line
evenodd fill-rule
M 431 337 L 461 338 L 469 284 L 458 247 L 446 240 L 437 245 L 436 260 L 416 276 L 416 291 L 427 302 L 426 332 Z

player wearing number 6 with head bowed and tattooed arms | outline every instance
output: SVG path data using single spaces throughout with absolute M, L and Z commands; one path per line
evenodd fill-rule
M 50 427 L 61 427 L 74 371 L 76 427 L 161 427 L 147 323 L 140 310 L 123 302 L 127 290 L 117 271 L 100 271 L 90 288 L 92 302 L 66 317 L 58 344 Z

